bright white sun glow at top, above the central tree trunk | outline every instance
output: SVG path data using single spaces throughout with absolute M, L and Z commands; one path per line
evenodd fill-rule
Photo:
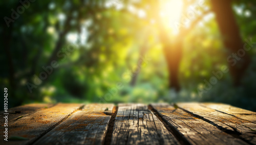
M 171 28 L 174 34 L 178 33 L 175 24 L 180 21 L 182 5 L 182 1 L 177 0 L 169 0 L 161 3 L 160 16 L 163 19 L 165 27 Z

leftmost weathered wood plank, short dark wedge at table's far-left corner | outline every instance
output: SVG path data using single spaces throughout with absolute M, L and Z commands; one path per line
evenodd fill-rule
M 27 116 L 31 113 L 34 113 L 40 109 L 50 108 L 53 104 L 28 104 L 23 106 L 18 106 L 14 108 L 8 109 L 8 122 L 13 122 L 13 120 L 17 119 L 20 116 Z M 0 112 L 0 118 L 4 117 L 4 111 Z M 4 119 L 0 119 L 0 125 L 4 124 Z

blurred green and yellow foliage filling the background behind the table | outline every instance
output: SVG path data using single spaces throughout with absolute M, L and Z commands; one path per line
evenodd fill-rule
M 198 94 L 212 71 L 227 65 L 214 13 L 183 36 L 182 90 L 176 93 L 168 88 L 158 21 L 142 16 L 153 10 L 150 4 L 142 0 L 35 1 L 7 27 L 4 17 L 11 18 L 11 9 L 16 11 L 21 4 L 1 1 L 0 84 L 2 89 L 8 88 L 10 107 L 33 102 L 198 101 L 256 111 L 255 45 L 249 51 L 253 62 L 242 86 L 233 87 L 227 73 L 207 93 Z M 243 40 L 256 41 L 256 3 L 234 1 L 233 8 Z M 146 51 L 141 55 L 142 48 Z M 140 58 L 144 58 L 141 65 Z M 51 66 L 52 61 L 58 67 L 35 85 L 35 78 L 46 72 L 42 67 Z M 138 65 L 141 69 L 137 72 Z M 134 72 L 138 76 L 136 85 L 131 86 Z M 35 85 L 32 92 L 28 83 Z

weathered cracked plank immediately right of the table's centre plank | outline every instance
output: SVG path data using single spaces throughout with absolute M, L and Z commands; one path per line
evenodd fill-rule
M 202 119 L 169 104 L 151 104 L 174 132 L 189 144 L 247 144 Z

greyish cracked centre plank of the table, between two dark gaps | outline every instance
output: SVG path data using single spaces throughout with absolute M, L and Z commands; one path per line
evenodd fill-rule
M 119 104 L 111 144 L 179 144 L 142 104 Z

